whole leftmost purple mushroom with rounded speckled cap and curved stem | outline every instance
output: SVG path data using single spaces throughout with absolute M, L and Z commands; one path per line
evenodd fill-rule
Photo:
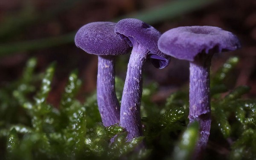
M 76 46 L 98 55 L 97 102 L 103 125 L 119 123 L 120 105 L 115 92 L 115 56 L 126 54 L 129 45 L 114 33 L 116 23 L 93 22 L 82 26 L 75 36 Z

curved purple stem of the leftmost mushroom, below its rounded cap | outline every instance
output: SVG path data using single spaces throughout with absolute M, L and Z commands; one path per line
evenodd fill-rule
M 97 101 L 103 125 L 119 123 L 120 106 L 115 91 L 115 58 L 98 56 Z

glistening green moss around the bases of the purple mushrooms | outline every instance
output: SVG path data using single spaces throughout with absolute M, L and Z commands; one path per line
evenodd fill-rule
M 241 98 L 250 87 L 239 86 L 227 91 L 224 84 L 238 61 L 237 57 L 230 58 L 212 75 L 213 120 L 209 141 L 227 146 L 223 159 L 249 160 L 256 157 L 256 100 Z M 157 84 L 144 87 L 141 102 L 144 137 L 126 142 L 127 133 L 118 124 L 102 125 L 96 93 L 86 97 L 84 103 L 76 99 L 81 87 L 77 70 L 70 73 L 60 105 L 52 106 L 47 97 L 56 64 L 50 64 L 43 74 L 35 73 L 36 64 L 37 60 L 31 58 L 23 76 L 0 89 L 3 159 L 190 159 L 198 138 L 198 124 L 186 127 L 187 91 L 172 93 L 165 104 L 158 105 L 151 102 Z M 41 81 L 40 87 L 37 87 L 38 81 Z M 119 100 L 123 84 L 122 79 L 116 78 Z M 217 151 L 214 155 L 211 152 L 214 149 L 207 149 L 205 156 L 223 157 Z

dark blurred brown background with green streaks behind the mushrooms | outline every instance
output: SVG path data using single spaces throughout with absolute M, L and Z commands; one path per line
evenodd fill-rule
M 157 10 L 157 11 L 156 11 Z M 0 87 L 20 77 L 26 61 L 38 58 L 37 72 L 57 62 L 48 101 L 58 106 L 70 72 L 79 69 L 83 81 L 79 99 L 96 89 L 97 56 L 77 48 L 76 31 L 95 21 L 118 21 L 135 17 L 160 32 L 178 26 L 218 26 L 236 34 L 242 48 L 216 54 L 212 73 L 232 55 L 240 62 L 226 82 L 229 89 L 252 87 L 248 98 L 256 97 L 256 0 L 1 0 L 0 1 Z M 125 78 L 129 55 L 120 56 L 116 73 Z M 144 83 L 157 81 L 160 90 L 152 97 L 161 102 L 187 85 L 189 64 L 172 59 L 157 70 L 147 62 Z

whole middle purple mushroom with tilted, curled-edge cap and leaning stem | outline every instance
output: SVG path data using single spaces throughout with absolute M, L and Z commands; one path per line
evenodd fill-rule
M 115 33 L 133 47 L 128 63 L 120 109 L 120 126 L 128 132 L 127 140 L 142 136 L 140 101 L 142 96 L 143 64 L 151 59 L 154 67 L 162 69 L 170 56 L 157 47 L 161 35 L 154 27 L 137 19 L 123 19 L 116 23 Z

